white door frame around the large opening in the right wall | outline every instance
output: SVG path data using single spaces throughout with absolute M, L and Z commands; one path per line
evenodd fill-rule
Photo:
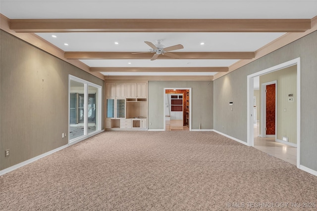
M 253 128 L 253 96 L 254 96 L 254 93 L 253 93 L 253 78 L 256 77 L 256 76 L 260 76 L 260 75 L 263 75 L 263 74 L 266 74 L 266 73 L 270 73 L 270 72 L 273 72 L 273 71 L 277 71 L 277 70 L 280 70 L 280 69 L 284 69 L 286 67 L 290 67 L 290 66 L 293 66 L 293 65 L 297 65 L 297 168 L 300 168 L 300 148 L 301 148 L 301 84 L 300 84 L 300 77 L 301 77 L 301 59 L 300 57 L 296 58 L 296 59 L 293 59 L 293 60 L 290 60 L 290 61 L 287 61 L 287 62 L 284 62 L 282 64 L 279 64 L 279 65 L 276 65 L 274 67 L 270 67 L 270 68 L 267 68 L 265 70 L 262 70 L 260 72 L 257 72 L 257 73 L 254 73 L 254 74 L 251 74 L 251 75 L 248 75 L 247 76 L 247 124 L 248 124 L 248 127 L 247 127 L 247 145 L 248 146 L 254 146 L 254 128 Z

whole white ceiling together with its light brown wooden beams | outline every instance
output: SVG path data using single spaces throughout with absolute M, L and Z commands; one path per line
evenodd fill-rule
M 0 0 L 10 30 L 33 34 L 105 77 L 212 78 L 288 33 L 311 29 L 317 0 Z M 34 35 L 34 34 L 33 34 Z M 145 43 L 179 58 L 159 55 Z M 204 43 L 204 44 L 203 44 Z M 67 44 L 67 45 L 66 45 Z M 133 54 L 133 52 L 147 52 Z

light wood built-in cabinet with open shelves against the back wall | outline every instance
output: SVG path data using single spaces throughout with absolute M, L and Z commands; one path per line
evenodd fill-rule
M 147 129 L 147 83 L 106 83 L 106 129 Z

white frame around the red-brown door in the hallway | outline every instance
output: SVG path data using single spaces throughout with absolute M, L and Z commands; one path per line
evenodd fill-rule
M 277 138 L 277 81 L 271 81 L 261 84 L 261 136 L 263 138 L 269 137 L 266 135 L 266 94 L 265 87 L 266 85 L 275 84 L 275 135 L 270 135 L 275 137 L 275 141 Z

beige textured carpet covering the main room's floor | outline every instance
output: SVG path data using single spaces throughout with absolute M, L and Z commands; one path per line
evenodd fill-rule
M 215 132 L 107 131 L 0 177 L 0 210 L 317 210 L 317 176 Z

